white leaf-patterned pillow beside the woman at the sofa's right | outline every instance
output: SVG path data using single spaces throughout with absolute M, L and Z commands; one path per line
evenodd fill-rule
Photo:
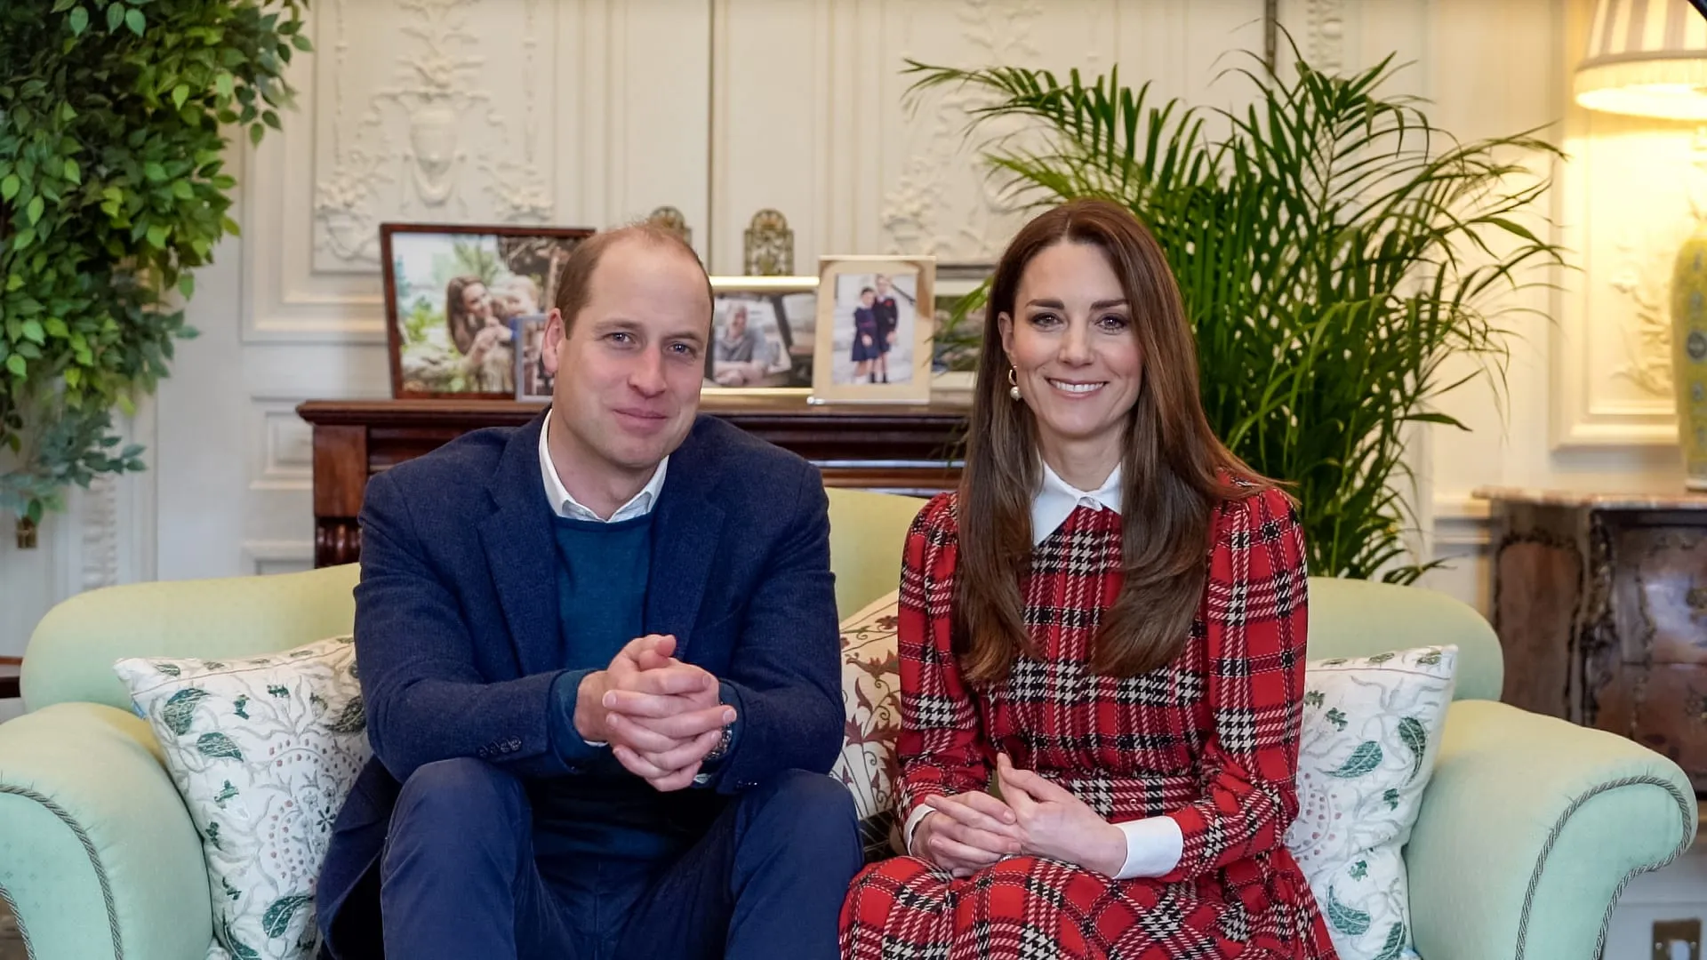
M 1400 851 L 1453 700 L 1458 647 L 1306 664 L 1299 815 L 1287 830 L 1340 960 L 1415 958 Z

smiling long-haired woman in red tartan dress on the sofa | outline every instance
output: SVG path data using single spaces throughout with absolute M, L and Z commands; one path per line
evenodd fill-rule
M 961 487 L 901 574 L 912 856 L 855 880 L 843 953 L 1331 958 L 1282 844 L 1297 516 L 1210 430 L 1161 249 L 1067 203 L 987 316 Z

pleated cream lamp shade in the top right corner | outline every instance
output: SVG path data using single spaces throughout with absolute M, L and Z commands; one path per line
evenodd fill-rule
M 1576 96 L 1606 113 L 1707 120 L 1707 19 L 1688 0 L 1596 0 Z

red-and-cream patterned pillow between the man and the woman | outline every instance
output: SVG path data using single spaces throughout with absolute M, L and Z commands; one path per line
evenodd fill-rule
M 901 772 L 894 755 L 894 736 L 901 729 L 901 668 L 894 646 L 898 596 L 900 591 L 874 600 L 842 622 L 847 733 L 830 774 L 854 794 L 867 861 L 893 854 L 894 781 Z

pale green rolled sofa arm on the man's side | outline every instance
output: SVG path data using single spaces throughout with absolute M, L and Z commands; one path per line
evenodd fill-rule
M 80 702 L 0 724 L 0 887 L 31 957 L 207 957 L 201 840 L 149 724 Z

